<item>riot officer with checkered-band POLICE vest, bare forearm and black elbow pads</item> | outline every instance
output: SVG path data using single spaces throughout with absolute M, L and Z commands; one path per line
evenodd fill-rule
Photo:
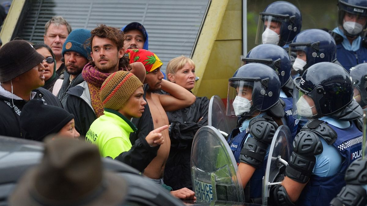
M 362 108 L 349 73 L 330 62 L 309 67 L 294 80 L 293 115 L 310 120 L 294 139 L 286 177 L 272 188 L 272 205 L 327 205 L 361 149 Z

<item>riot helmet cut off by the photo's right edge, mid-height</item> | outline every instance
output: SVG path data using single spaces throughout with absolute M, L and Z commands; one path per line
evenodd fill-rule
M 349 70 L 354 86 L 353 98 L 361 107 L 367 106 L 367 63 L 361 63 Z

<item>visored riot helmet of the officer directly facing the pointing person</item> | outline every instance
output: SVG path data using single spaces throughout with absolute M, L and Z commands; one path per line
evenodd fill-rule
M 269 66 L 248 63 L 228 81 L 227 115 L 258 115 L 279 102 L 279 77 Z

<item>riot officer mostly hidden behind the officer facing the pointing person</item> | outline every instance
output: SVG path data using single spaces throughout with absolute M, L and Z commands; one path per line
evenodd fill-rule
M 273 44 L 261 44 L 253 49 L 242 59 L 245 64 L 256 62 L 268 65 L 278 74 L 280 80 L 280 101 L 279 107 L 270 108 L 269 112 L 277 117 L 281 117 L 284 125 L 291 130 L 294 138 L 297 133 L 298 121 L 292 117 L 292 88 L 287 87 L 288 82 L 292 83 L 291 61 L 288 53 L 281 47 Z

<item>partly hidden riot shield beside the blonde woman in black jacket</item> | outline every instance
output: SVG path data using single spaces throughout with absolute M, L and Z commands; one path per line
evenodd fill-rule
M 228 136 L 232 129 L 237 127 L 237 117 L 226 115 L 224 103 L 217 95 L 210 98 L 208 125 L 217 128 L 224 136 Z

